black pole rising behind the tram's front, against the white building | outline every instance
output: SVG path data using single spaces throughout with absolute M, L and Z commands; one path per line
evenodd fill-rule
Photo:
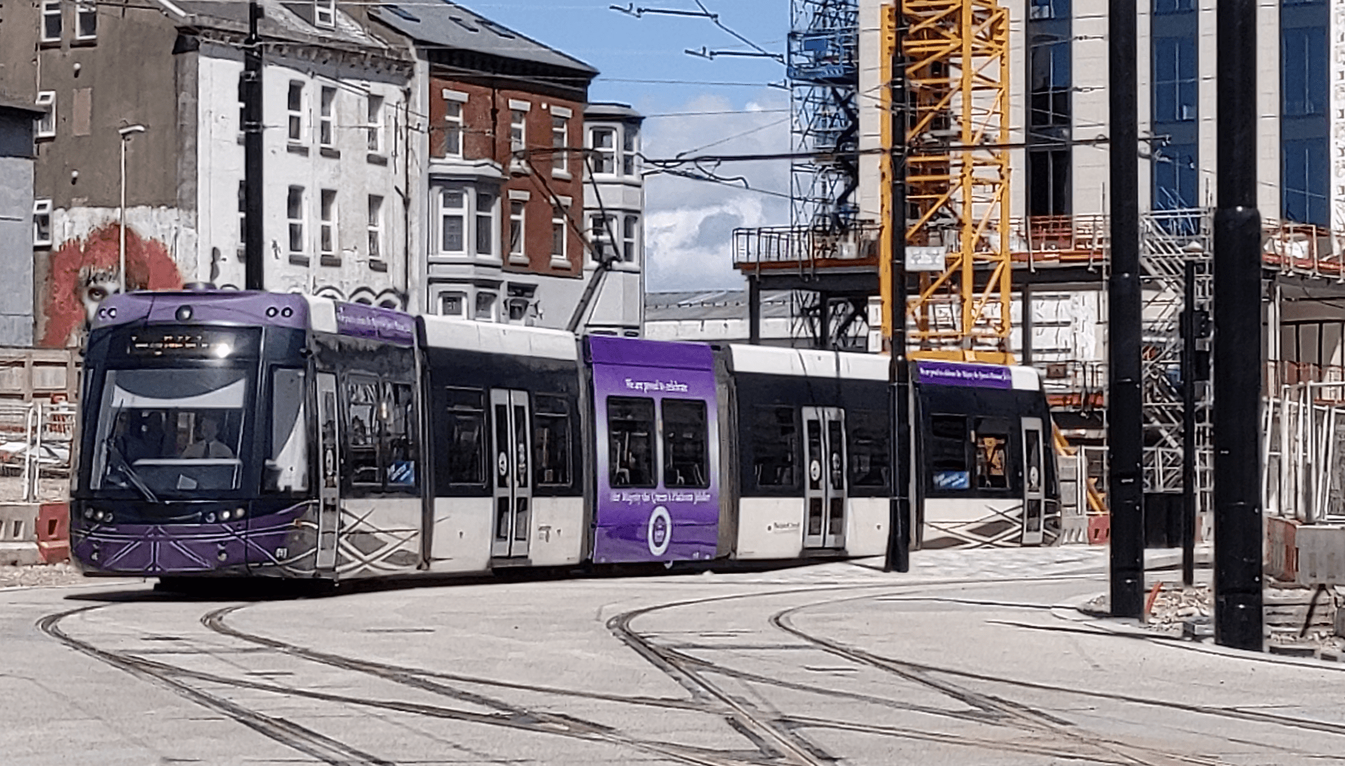
M 262 249 L 265 247 L 265 212 L 262 207 L 262 98 L 261 36 L 257 22 L 261 5 L 247 3 L 247 40 L 243 43 L 243 286 L 264 290 Z

